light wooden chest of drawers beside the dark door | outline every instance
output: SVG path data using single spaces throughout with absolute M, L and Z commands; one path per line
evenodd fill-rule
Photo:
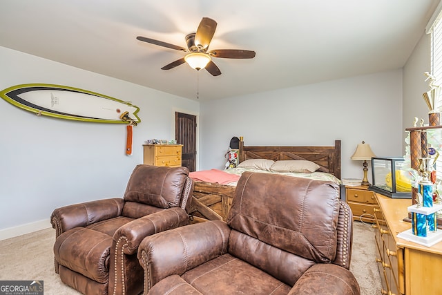
M 155 166 L 181 166 L 182 144 L 145 144 L 143 163 Z

